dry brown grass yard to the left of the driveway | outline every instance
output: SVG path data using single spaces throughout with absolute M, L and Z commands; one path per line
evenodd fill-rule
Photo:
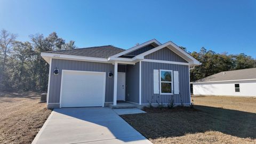
M 0 92 L 0 143 L 31 143 L 51 110 L 35 92 Z

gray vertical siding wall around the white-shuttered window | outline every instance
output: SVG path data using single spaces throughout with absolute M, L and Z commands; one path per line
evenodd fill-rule
M 169 63 L 141 62 L 141 101 L 148 103 L 153 97 L 153 103 L 169 103 L 171 95 L 154 94 L 154 69 L 166 69 L 179 71 L 179 91 L 183 103 L 190 103 L 189 94 L 189 71 L 186 65 L 173 65 Z M 158 98 L 159 97 L 159 98 Z M 179 95 L 174 95 L 174 102 L 180 103 Z

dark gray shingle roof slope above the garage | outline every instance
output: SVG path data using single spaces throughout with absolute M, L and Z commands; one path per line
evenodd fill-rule
M 94 57 L 94 58 L 109 58 L 110 56 L 123 51 L 125 50 L 112 45 L 104 45 L 104 46 L 85 47 L 85 48 L 73 49 L 73 50 L 49 51 L 46 53 L 77 55 L 77 56 Z

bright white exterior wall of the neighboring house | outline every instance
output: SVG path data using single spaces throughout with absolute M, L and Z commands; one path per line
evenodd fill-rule
M 235 84 L 239 84 L 240 92 L 235 92 Z M 256 97 L 256 81 L 193 83 L 193 94 Z

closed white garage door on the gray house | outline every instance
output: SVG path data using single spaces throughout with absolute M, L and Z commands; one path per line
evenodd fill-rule
M 103 107 L 106 73 L 62 70 L 60 107 Z

